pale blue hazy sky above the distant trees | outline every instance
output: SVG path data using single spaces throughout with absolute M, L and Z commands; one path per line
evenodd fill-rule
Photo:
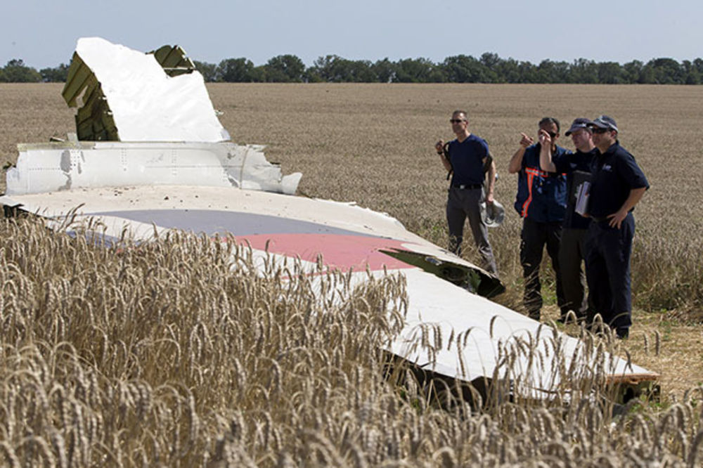
M 480 57 L 534 64 L 703 58 L 703 1 L 14 0 L 4 2 L 0 67 L 69 63 L 79 37 L 139 51 L 182 46 L 193 60 L 292 54 L 349 60 Z

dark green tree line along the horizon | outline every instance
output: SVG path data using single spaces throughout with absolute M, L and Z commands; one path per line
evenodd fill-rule
M 319 57 L 306 67 L 295 55 L 271 58 L 255 66 L 247 58 L 218 64 L 194 61 L 206 82 L 226 83 L 579 83 L 579 84 L 702 84 L 703 59 L 653 58 L 621 65 L 579 58 L 572 63 L 542 60 L 538 65 L 486 52 L 479 58 L 451 56 L 440 63 L 427 58 L 391 61 Z M 68 65 L 39 71 L 14 59 L 0 68 L 0 82 L 65 82 Z

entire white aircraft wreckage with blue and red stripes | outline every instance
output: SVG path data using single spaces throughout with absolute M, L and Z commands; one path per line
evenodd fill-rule
M 79 39 L 63 97 L 77 108 L 77 138 L 20 143 L 4 206 L 49 226 L 69 215 L 97 218 L 115 240 L 125 228 L 141 240 L 170 229 L 231 233 L 259 259 L 297 259 L 312 270 L 321 254 L 357 284 L 401 273 L 405 325 L 387 351 L 433 378 L 483 386 L 500 377 L 511 391 L 548 398 L 565 369 L 581 372 L 576 356 L 581 368 L 635 389 L 658 378 L 617 356 L 597 363 L 579 339 L 490 301 L 504 289 L 498 278 L 390 216 L 293 195 L 301 174 L 282 176 L 261 145 L 229 141 L 202 75 L 177 46 L 141 53 Z M 423 330 L 456 339 L 418 346 Z M 530 351 L 503 370 L 506 346 Z

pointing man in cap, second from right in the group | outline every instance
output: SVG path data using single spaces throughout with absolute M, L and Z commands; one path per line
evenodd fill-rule
M 591 220 L 575 211 L 574 173 L 581 171 L 585 176 L 591 172 L 591 162 L 597 150 L 593 145 L 591 129 L 588 127 L 590 123 L 591 120 L 583 117 L 574 119 L 571 128 L 566 131 L 565 135 L 571 136 L 576 152 L 573 154 L 564 153 L 561 157 L 552 157 L 549 134 L 541 131 L 539 135 L 541 169 L 556 174 L 567 174 L 567 212 L 562 225 L 562 240 L 559 245 L 559 268 L 566 301 L 560 317 L 562 322 L 566 321 L 565 309 L 574 311 L 579 320 L 586 319 L 588 315 L 586 275 L 583 273 L 581 263 L 586 256 L 584 241 Z

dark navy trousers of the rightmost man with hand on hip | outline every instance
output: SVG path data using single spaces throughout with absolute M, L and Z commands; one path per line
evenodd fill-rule
M 635 218 L 628 214 L 619 229 L 593 221 L 586 234 L 586 279 L 593 313 L 614 329 L 632 325 L 630 256 Z

